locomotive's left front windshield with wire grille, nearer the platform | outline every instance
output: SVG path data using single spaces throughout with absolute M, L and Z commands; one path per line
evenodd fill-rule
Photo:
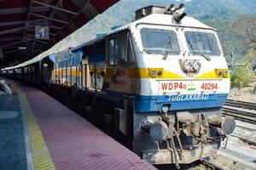
M 180 48 L 174 31 L 143 28 L 143 48 L 147 54 L 179 54 Z

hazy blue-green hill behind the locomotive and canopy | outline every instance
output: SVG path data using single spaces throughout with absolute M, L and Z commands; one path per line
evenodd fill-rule
M 96 37 L 96 34 L 108 32 L 112 26 L 125 25 L 133 20 L 135 11 L 148 5 L 166 6 L 170 3 L 185 3 L 186 13 L 189 16 L 201 20 L 208 26 L 212 26 L 219 31 L 219 37 L 223 42 L 224 54 L 227 58 L 231 55 L 232 48 L 236 48 L 236 54 L 246 53 L 245 42 L 242 42 L 232 31 L 232 22 L 241 14 L 256 13 L 256 2 L 252 0 L 121 0 L 113 7 L 109 8 L 104 14 L 98 15 L 87 25 L 65 38 L 52 48 L 49 53 L 63 50 L 68 47 L 75 47 Z

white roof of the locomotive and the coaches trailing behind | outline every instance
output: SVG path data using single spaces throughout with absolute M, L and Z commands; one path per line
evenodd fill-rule
M 183 20 L 181 21 L 181 23 L 177 24 L 177 23 L 173 23 L 172 14 L 150 14 L 148 16 L 143 17 L 142 19 L 134 20 L 131 23 L 125 25 L 125 26 L 121 26 L 121 27 L 119 27 L 119 28 L 117 28 L 113 31 L 109 31 L 108 33 L 102 35 L 101 37 L 96 37 L 95 39 L 92 39 L 89 42 L 84 42 L 81 45 L 79 45 L 78 47 L 68 48 L 68 49 L 71 49 L 72 51 L 77 50 L 77 49 L 82 48 L 84 46 L 88 46 L 88 45 L 93 44 L 95 42 L 101 41 L 102 39 L 104 39 L 108 36 L 111 36 L 114 33 L 129 29 L 131 26 L 137 26 L 137 25 L 140 25 L 140 24 L 152 24 L 152 23 L 154 23 L 154 25 L 177 26 L 177 27 L 182 26 L 182 27 L 191 27 L 191 28 L 198 28 L 198 29 L 200 29 L 200 28 L 202 28 L 202 29 L 211 29 L 213 31 L 216 31 L 214 28 L 212 28 L 210 26 L 207 26 L 204 23 L 202 23 L 201 21 L 195 20 L 192 17 L 185 16 L 183 18 Z M 66 50 L 63 50 L 63 51 L 66 51 Z M 61 52 L 59 52 L 59 53 L 61 53 Z M 26 62 L 21 63 L 20 65 L 15 65 L 15 66 L 12 66 L 12 67 L 5 68 L 5 69 L 3 69 L 3 71 L 4 70 L 9 70 L 9 69 L 16 69 L 16 68 L 23 67 L 23 66 L 26 66 L 26 65 L 31 65 L 33 63 L 38 62 L 41 59 L 44 59 L 47 56 L 49 56 L 49 55 L 45 56 L 43 54 L 39 54 L 37 57 L 35 57 L 33 59 L 27 60 Z

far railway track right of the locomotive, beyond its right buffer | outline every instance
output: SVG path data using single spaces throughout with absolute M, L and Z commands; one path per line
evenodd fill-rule
M 256 104 L 227 99 L 222 107 L 224 116 L 233 116 L 236 120 L 256 124 Z

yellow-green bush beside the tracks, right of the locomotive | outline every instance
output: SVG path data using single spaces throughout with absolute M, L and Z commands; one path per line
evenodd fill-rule
M 253 72 L 249 65 L 238 66 L 231 74 L 231 85 L 236 88 L 246 87 L 253 79 Z

